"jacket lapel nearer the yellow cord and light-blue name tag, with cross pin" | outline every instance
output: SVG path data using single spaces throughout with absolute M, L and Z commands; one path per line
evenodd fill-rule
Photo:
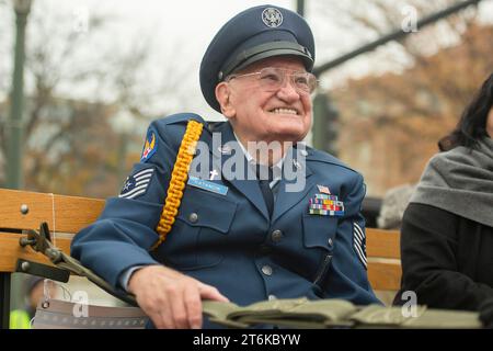
M 244 154 L 242 154 L 242 150 L 239 147 L 232 147 L 228 148 L 232 143 L 239 143 L 237 141 L 237 138 L 234 137 L 234 134 L 232 132 L 231 125 L 226 122 L 222 123 L 220 126 L 218 126 L 217 129 L 215 129 L 213 133 L 220 133 L 221 135 L 221 143 L 211 143 L 209 145 L 209 150 L 213 154 L 213 159 L 215 162 L 220 161 L 220 170 L 221 170 L 221 177 L 225 182 L 230 183 L 232 186 L 234 186 L 239 192 L 241 192 L 268 220 L 268 211 L 267 206 L 265 205 L 264 197 L 262 196 L 262 192 L 259 186 L 259 182 L 256 179 L 246 179 L 243 174 L 243 179 L 231 179 L 231 176 L 228 172 L 229 166 L 231 165 L 230 160 L 227 166 L 225 167 L 225 162 L 227 162 L 231 157 L 234 157 L 234 152 L 241 152 L 241 157 L 237 156 L 237 159 L 241 160 L 243 162 L 242 166 L 244 166 L 244 170 L 248 171 L 249 165 L 246 162 L 246 158 L 244 157 Z M 214 135 L 213 135 L 214 137 Z M 231 143 L 232 141 L 232 143 Z M 228 145 L 229 143 L 229 145 Z M 229 150 L 229 152 L 228 152 Z

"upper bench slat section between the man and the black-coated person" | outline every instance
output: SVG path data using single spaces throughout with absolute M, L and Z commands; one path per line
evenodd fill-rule
M 366 254 L 386 259 L 400 259 L 400 239 L 397 230 L 366 228 Z

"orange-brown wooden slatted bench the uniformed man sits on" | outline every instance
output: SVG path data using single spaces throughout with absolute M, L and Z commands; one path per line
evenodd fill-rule
M 10 309 L 10 274 L 18 259 L 50 264 L 32 248 L 19 245 L 23 230 L 46 222 L 56 247 L 70 252 L 76 233 L 94 222 L 104 200 L 0 189 L 0 328 L 7 328 Z M 367 228 L 368 276 L 376 291 L 397 291 L 401 267 L 399 233 Z

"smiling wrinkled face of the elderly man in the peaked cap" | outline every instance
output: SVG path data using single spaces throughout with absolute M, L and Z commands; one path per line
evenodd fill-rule
M 305 71 L 300 59 L 284 56 L 254 63 L 241 75 L 265 67 Z M 311 97 L 299 93 L 288 79 L 276 91 L 263 89 L 256 75 L 231 79 L 216 87 L 216 98 L 243 145 L 257 140 L 300 141 L 311 126 Z

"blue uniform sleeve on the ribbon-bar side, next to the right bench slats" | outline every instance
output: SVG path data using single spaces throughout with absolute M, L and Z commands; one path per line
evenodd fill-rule
M 360 210 L 365 196 L 363 177 L 357 174 L 344 199 L 344 216 L 337 225 L 329 296 L 344 296 L 356 305 L 381 304 L 375 296 L 367 275 L 365 218 Z

